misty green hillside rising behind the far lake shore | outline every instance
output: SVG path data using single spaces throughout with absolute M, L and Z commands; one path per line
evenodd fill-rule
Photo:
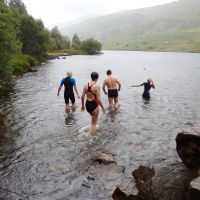
M 103 49 L 200 52 L 200 0 L 97 17 L 61 31 L 70 37 L 93 37 Z

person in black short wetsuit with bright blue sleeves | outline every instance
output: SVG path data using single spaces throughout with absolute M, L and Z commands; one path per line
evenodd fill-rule
M 76 80 L 72 77 L 72 72 L 67 72 L 67 77 L 63 78 L 61 80 L 61 83 L 58 87 L 58 93 L 57 96 L 59 96 L 60 94 L 60 90 L 62 88 L 62 86 L 65 86 L 65 90 L 64 90 L 64 99 L 65 99 L 65 104 L 66 104 L 66 109 L 65 111 L 68 112 L 69 111 L 69 100 L 72 103 L 72 110 L 75 110 L 75 96 L 74 96 L 74 90 L 77 94 L 77 97 L 80 98 L 79 94 L 78 94 L 78 89 L 76 87 Z

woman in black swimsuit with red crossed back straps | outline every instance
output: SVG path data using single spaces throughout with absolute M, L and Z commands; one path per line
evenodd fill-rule
M 81 97 L 82 108 L 81 110 L 86 110 L 91 115 L 91 127 L 90 127 L 90 134 L 96 135 L 96 125 L 98 122 L 99 117 L 99 105 L 102 108 L 103 112 L 105 112 L 103 103 L 100 99 L 100 86 L 97 84 L 98 80 L 98 73 L 92 72 L 91 74 L 91 82 L 87 83 L 83 88 L 83 94 Z M 84 98 L 85 95 L 87 96 L 86 104 L 84 105 Z

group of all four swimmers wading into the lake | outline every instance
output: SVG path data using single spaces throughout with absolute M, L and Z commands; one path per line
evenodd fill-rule
M 117 110 L 119 108 L 118 92 L 121 89 L 121 83 L 115 76 L 112 75 L 111 70 L 107 70 L 106 73 L 107 73 L 107 78 L 103 82 L 102 89 L 105 95 L 108 95 L 109 107 L 112 107 L 114 103 L 114 108 Z M 84 85 L 81 96 L 81 104 L 82 104 L 81 110 L 84 111 L 86 108 L 87 112 L 91 116 L 91 127 L 89 131 L 91 135 L 96 135 L 96 125 L 99 117 L 99 106 L 101 107 L 103 113 L 105 113 L 105 107 L 100 98 L 101 87 L 97 83 L 98 78 L 99 74 L 97 72 L 91 73 L 91 81 Z M 60 90 L 63 85 L 65 87 L 64 99 L 66 104 L 65 108 L 66 112 L 69 112 L 70 110 L 69 100 L 72 103 L 72 110 L 75 110 L 74 90 L 78 98 L 80 98 L 80 95 L 76 87 L 76 80 L 72 77 L 72 72 L 67 72 L 67 77 L 61 80 L 61 83 L 58 87 L 57 96 L 59 96 Z M 153 81 L 149 78 L 147 79 L 147 82 L 142 83 L 140 85 L 132 85 L 131 87 L 140 87 L 140 86 L 144 86 L 144 92 L 142 95 L 143 98 L 150 99 L 149 91 L 151 88 L 155 88 Z M 85 102 L 85 96 L 86 96 L 86 102 Z

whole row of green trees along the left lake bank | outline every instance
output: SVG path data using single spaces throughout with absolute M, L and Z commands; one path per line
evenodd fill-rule
M 48 30 L 42 20 L 29 15 L 22 0 L 0 0 L 0 88 L 20 68 L 16 61 L 23 58 L 34 64 L 34 59 L 46 58 L 48 51 L 70 48 L 95 54 L 101 44 L 93 39 L 80 41 L 77 34 L 70 41 L 57 27 Z

